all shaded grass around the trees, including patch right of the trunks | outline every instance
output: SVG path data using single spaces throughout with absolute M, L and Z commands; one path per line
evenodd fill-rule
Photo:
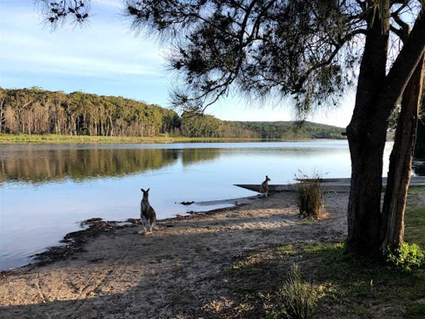
M 425 206 L 408 208 L 405 221 L 406 242 L 425 248 Z M 425 267 L 407 273 L 380 259 L 347 255 L 343 242 L 302 246 L 299 255 L 302 255 L 304 277 L 324 287 L 324 304 L 331 305 L 335 318 L 425 315 L 421 312 L 424 309 Z M 343 307 L 333 308 L 332 305 Z M 326 307 L 321 311 L 329 315 Z

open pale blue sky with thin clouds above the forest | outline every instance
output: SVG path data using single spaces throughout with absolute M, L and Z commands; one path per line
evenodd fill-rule
M 37 86 L 53 91 L 84 91 L 124 96 L 168 106 L 173 78 L 167 74 L 166 48 L 129 32 L 120 16 L 120 0 L 94 0 L 84 28 L 44 26 L 32 0 L 0 0 L 0 86 Z M 290 102 L 250 105 L 238 96 L 220 100 L 207 113 L 223 120 L 293 119 Z M 354 107 L 348 92 L 339 108 L 310 121 L 345 127 Z

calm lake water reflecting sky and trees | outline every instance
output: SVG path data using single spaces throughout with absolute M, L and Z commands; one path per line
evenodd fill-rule
M 384 156 L 384 172 L 392 144 Z M 233 184 L 292 182 L 298 170 L 349 177 L 347 141 L 0 145 L 0 269 L 22 266 L 91 217 L 139 217 L 151 188 L 159 219 L 208 201 L 254 195 Z

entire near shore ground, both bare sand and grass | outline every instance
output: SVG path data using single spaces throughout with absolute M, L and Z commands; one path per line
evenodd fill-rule
M 423 279 L 414 274 L 409 280 L 391 271 L 387 276 L 387 266 L 372 274 L 374 268 L 361 268 L 358 258 L 345 264 L 348 193 L 325 193 L 327 216 L 318 221 L 299 218 L 293 192 L 254 197 L 238 206 L 161 220 L 149 235 L 137 234 L 136 219 L 88 220 L 89 228 L 64 237 L 73 250 L 0 274 L 2 314 L 9 319 L 264 318 L 265 305 L 278 306 L 273 296 L 294 263 L 327 295 L 314 318 L 363 318 L 366 306 L 379 318 L 401 318 L 412 300 L 421 298 Z M 409 191 L 409 242 L 409 234 L 422 238 L 422 222 L 412 223 L 422 211 L 411 211 L 420 207 L 425 209 L 425 188 Z M 404 288 L 406 282 L 416 290 Z

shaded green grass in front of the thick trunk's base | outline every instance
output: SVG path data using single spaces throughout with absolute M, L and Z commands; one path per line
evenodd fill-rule
M 384 317 L 403 315 L 412 301 L 425 295 L 424 268 L 407 273 L 378 260 L 346 255 L 341 243 L 323 245 L 304 258 L 309 261 L 304 275 L 325 287 L 325 304 L 343 306 L 335 308 L 335 317 L 362 317 L 363 308 L 375 308 L 374 313 L 387 308 Z

